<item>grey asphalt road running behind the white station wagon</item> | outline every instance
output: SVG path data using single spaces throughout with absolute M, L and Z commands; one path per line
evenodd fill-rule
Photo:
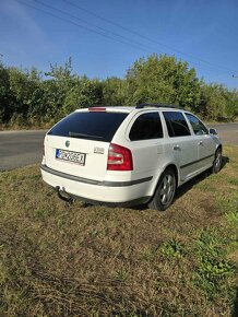
M 225 144 L 238 145 L 238 122 L 207 126 L 217 129 Z M 40 163 L 45 133 L 44 130 L 0 132 L 0 171 Z

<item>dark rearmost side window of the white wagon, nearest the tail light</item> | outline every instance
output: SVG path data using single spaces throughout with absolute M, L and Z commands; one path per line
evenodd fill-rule
M 143 114 L 138 117 L 129 133 L 131 141 L 163 138 L 162 121 L 158 113 Z

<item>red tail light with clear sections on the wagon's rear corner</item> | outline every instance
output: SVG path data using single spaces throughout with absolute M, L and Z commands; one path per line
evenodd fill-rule
M 108 150 L 107 171 L 133 171 L 131 150 L 111 143 Z

